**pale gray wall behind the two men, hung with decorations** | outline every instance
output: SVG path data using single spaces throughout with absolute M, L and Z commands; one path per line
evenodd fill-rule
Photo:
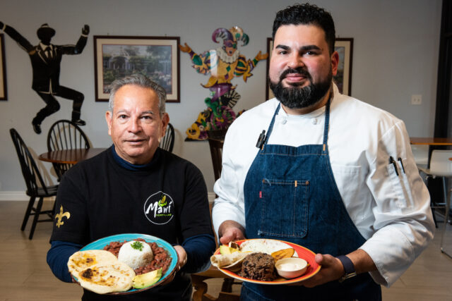
M 438 65 L 440 0 L 319 0 L 317 5 L 331 11 L 338 37 L 353 37 L 352 96 L 379 106 L 402 118 L 412 136 L 433 134 Z M 105 110 L 107 103 L 95 102 L 93 35 L 179 36 L 201 53 L 218 47 L 211 39 L 218 27 L 239 25 L 250 37 L 239 51 L 253 59 L 266 51 L 275 12 L 293 4 L 287 0 L 261 1 L 61 1 L 2 0 L 0 20 L 16 28 L 32 44 L 36 30 L 49 23 L 57 31 L 54 44 L 73 44 L 83 24 L 90 25 L 88 44 L 81 55 L 64 56 L 61 85 L 85 94 L 83 128 L 93 147 L 108 147 Z M 0 199 L 1 194 L 23 192 L 25 185 L 8 129 L 16 128 L 28 146 L 40 154 L 46 151 L 46 133 L 54 121 L 70 118 L 72 102 L 59 99 L 61 109 L 42 123 L 42 134 L 32 131 L 31 120 L 44 102 L 31 90 L 28 55 L 5 35 L 8 101 L 0 102 Z M 194 162 L 213 190 L 213 168 L 207 142 L 184 142 L 185 130 L 206 108 L 208 90 L 201 87 L 208 76 L 191 68 L 187 54 L 181 54 L 181 102 L 167 104 L 177 130 L 174 153 Z M 256 66 L 245 83 L 232 80 L 242 99 L 235 111 L 249 109 L 265 99 L 266 61 Z M 412 106 L 412 94 L 422 94 L 422 105 Z M 257 138 L 257 137 L 256 137 Z M 50 164 L 44 164 L 47 171 Z M 53 170 L 51 171 L 53 173 Z M 50 176 L 50 181 L 54 177 Z

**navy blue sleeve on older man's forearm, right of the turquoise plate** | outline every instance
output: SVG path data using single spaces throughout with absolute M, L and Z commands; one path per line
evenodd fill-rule
M 187 262 L 182 271 L 190 274 L 206 271 L 210 266 L 210 256 L 215 252 L 213 235 L 200 234 L 184 240 L 182 247 L 186 252 Z

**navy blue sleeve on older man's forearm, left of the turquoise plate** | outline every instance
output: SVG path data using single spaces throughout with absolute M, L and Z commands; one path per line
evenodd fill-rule
M 52 273 L 64 282 L 72 282 L 71 274 L 69 274 L 68 260 L 69 257 L 83 247 L 73 242 L 65 242 L 61 240 L 53 240 L 52 246 L 47 252 L 47 264 L 49 264 Z

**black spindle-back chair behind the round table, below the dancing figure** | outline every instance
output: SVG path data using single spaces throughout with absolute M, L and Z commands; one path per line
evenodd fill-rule
M 49 152 L 60 149 L 89 149 L 90 142 L 83 130 L 69 120 L 60 120 L 52 124 L 47 134 L 47 149 Z M 73 166 L 73 164 L 52 163 L 58 180 Z

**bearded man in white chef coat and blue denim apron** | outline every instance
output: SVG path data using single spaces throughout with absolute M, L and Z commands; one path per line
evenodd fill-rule
M 275 98 L 227 132 L 213 224 L 222 244 L 307 247 L 321 270 L 299 285 L 244 282 L 241 299 L 381 300 L 380 285 L 392 285 L 434 231 L 405 125 L 340 94 L 334 23 L 323 8 L 279 11 L 273 41 Z

